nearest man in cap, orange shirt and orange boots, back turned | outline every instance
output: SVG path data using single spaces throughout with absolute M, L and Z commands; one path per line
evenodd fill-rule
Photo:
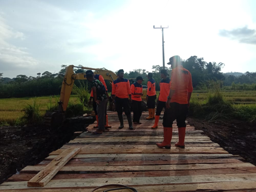
M 178 126 L 179 141 L 176 147 L 185 148 L 186 116 L 191 93 L 193 91 L 191 73 L 183 68 L 178 55 L 169 59 L 168 65 L 172 67 L 171 89 L 167 97 L 166 110 L 164 111 L 164 141 L 156 143 L 158 147 L 170 149 L 172 140 L 172 124 L 176 119 Z

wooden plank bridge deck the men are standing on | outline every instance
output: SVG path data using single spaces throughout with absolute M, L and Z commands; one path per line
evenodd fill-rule
M 203 131 L 187 125 L 185 149 L 174 146 L 178 129 L 173 129 L 171 149 L 158 148 L 163 140 L 162 119 L 158 129 L 154 120 L 144 120 L 128 129 L 118 129 L 115 112 L 109 112 L 112 126 L 102 135 L 88 131 L 49 154 L 44 161 L 27 166 L 0 185 L 3 192 L 91 192 L 106 184 L 123 184 L 140 192 L 160 191 L 256 191 L 256 167 L 240 156 L 229 154 Z M 175 127 L 176 124 L 174 124 Z M 27 187 L 28 181 L 66 149 L 81 150 L 44 187 Z M 110 187 L 116 188 L 116 187 Z M 97 192 L 109 187 L 96 190 Z M 131 191 L 130 189 L 116 191 Z

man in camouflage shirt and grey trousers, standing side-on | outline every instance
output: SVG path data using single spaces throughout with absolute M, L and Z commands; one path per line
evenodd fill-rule
M 106 111 L 106 103 L 108 102 L 108 97 L 106 95 L 105 86 L 98 79 L 93 77 L 93 73 L 86 74 L 87 80 L 91 83 L 93 101 L 97 103 L 97 114 L 99 127 L 96 131 L 91 134 L 97 135 L 102 134 L 105 131 L 105 111 Z

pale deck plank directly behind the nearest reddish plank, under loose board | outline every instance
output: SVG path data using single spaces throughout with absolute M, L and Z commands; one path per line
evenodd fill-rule
M 213 169 L 213 168 L 242 168 L 255 167 L 251 163 L 224 163 L 224 164 L 182 164 L 182 165 L 126 165 L 126 166 L 63 166 L 62 172 L 132 172 L 132 171 L 156 171 L 156 170 L 192 170 L 192 169 Z M 20 170 L 22 173 L 39 172 L 45 168 L 40 166 L 27 166 Z M 256 179 L 256 174 L 255 174 Z M 38 186 L 38 185 L 37 185 Z M 34 186 L 36 187 L 36 186 Z M 38 186 L 39 187 L 39 186 Z

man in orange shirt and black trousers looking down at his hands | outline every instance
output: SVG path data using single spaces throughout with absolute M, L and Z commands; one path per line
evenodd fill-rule
M 142 93 L 142 81 L 143 78 L 138 76 L 136 78 L 136 82 L 131 85 L 131 93 L 132 93 L 132 109 L 133 109 L 133 123 L 141 124 L 140 118 L 142 114 L 142 104 L 141 104 L 141 96 Z

